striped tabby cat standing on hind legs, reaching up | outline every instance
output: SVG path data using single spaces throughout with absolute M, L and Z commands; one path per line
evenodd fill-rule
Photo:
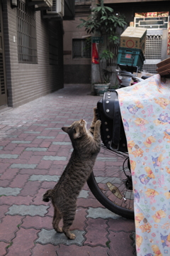
M 89 130 L 86 129 L 84 119 L 73 122 L 70 127 L 62 127 L 62 130 L 69 135 L 74 150 L 58 183 L 42 196 L 43 201 L 51 200 L 54 206 L 53 228 L 57 233 L 64 232 L 69 239 L 76 238 L 69 232 L 69 228 L 75 217 L 77 196 L 93 171 L 96 157 L 101 149 L 100 127 L 101 121 L 97 119 L 96 108 Z M 59 228 L 61 219 L 63 227 Z

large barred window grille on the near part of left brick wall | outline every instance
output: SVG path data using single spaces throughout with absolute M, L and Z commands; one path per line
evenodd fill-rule
M 19 63 L 38 63 L 35 12 L 19 1 L 17 8 Z

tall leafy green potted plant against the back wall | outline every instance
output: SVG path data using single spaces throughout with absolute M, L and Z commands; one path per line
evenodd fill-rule
M 104 38 L 104 43 L 98 43 L 99 77 L 95 84 L 97 83 L 98 85 L 96 86 L 99 87 L 103 85 L 105 87 L 104 90 L 107 91 L 111 78 L 111 73 L 107 72 L 107 61 L 114 56 L 109 46 L 110 43 L 118 43 L 120 38 L 118 28 L 125 27 L 125 18 L 122 15 L 115 14 L 112 8 L 104 6 L 103 0 L 101 0 L 100 4 L 97 4 L 91 10 L 89 18 L 87 20 L 81 18 L 80 21 L 78 28 L 84 27 L 87 33 Z

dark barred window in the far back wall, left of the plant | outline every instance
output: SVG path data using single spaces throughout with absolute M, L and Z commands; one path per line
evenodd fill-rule
M 73 58 L 91 58 L 91 38 L 73 39 Z

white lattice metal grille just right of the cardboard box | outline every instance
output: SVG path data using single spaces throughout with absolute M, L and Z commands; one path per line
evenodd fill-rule
M 162 35 L 147 35 L 145 47 L 146 59 L 162 58 Z

